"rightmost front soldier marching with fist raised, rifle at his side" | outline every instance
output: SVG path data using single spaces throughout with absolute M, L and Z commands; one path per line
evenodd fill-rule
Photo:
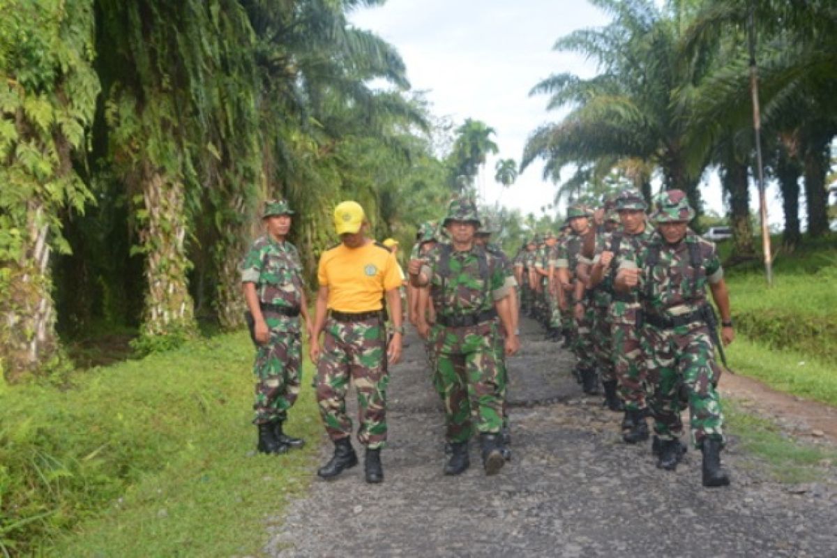
M 706 285 L 721 312 L 721 339 L 735 339 L 729 294 L 715 244 L 688 228 L 695 217 L 686 194 L 669 190 L 656 201 L 651 219 L 658 230 L 636 261 L 619 263 L 616 288 L 638 289 L 642 301 L 640 342 L 654 391 L 649 406 L 654 417 L 659 461 L 673 470 L 686 448 L 680 444 L 680 390 L 685 388 L 692 442 L 703 453 L 706 487 L 729 484 L 721 469 L 724 445 L 723 413 L 716 392 L 714 315 L 706 300 Z

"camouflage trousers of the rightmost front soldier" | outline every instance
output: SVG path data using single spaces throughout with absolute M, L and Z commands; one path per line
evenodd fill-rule
M 683 433 L 680 390 L 686 390 L 691 421 L 691 439 L 697 448 L 703 440 L 724 442 L 721 400 L 716 392 L 714 350 L 705 325 L 686 325 L 660 330 L 645 324 L 642 348 L 654 384 L 648 405 L 654 417 L 654 431 L 670 440 Z

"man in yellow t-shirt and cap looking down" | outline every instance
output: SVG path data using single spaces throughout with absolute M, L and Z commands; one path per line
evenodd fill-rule
M 334 210 L 334 225 L 341 243 L 320 258 L 311 361 L 317 365 L 320 415 L 335 450 L 317 474 L 330 479 L 357 465 L 352 419 L 346 413 L 351 381 L 357 391 L 357 440 L 367 448 L 366 480 L 380 483 L 381 448 L 387 440 L 387 364 L 401 357 L 404 332 L 398 294 L 402 279 L 393 253 L 367 238 L 369 223 L 357 202 L 341 202 Z M 384 299 L 393 321 L 389 346 Z

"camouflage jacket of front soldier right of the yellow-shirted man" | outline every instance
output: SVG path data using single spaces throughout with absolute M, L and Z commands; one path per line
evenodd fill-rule
M 450 245 L 439 245 L 430 250 L 427 259 L 422 274 L 430 279 L 430 298 L 437 315 L 478 314 L 491 310 L 496 300 L 508 295 L 503 261 L 485 248 L 474 246 L 457 252 Z

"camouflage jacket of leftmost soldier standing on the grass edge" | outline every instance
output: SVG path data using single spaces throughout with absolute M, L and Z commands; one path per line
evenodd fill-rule
M 302 264 L 296 247 L 278 243 L 269 235 L 256 238 L 239 265 L 242 283 L 254 283 L 262 304 L 300 308 Z M 285 316 L 288 325 L 299 323 Z

